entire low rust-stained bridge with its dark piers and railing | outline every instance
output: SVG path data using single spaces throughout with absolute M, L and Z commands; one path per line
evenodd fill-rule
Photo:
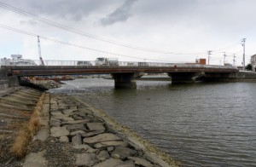
M 44 63 L 47 65 L 47 63 Z M 74 63 L 75 64 L 75 63 Z M 236 78 L 238 72 L 232 66 L 209 66 L 200 64 L 175 63 L 138 63 L 119 62 L 119 66 L 2 66 L 12 83 L 19 83 L 20 77 L 82 75 L 82 74 L 111 74 L 115 88 L 136 88 L 136 78 L 144 73 L 167 73 L 172 83 L 192 83 L 195 81 L 224 81 Z

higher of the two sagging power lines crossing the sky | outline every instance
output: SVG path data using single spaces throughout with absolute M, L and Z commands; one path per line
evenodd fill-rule
M 44 18 L 42 18 L 42 17 L 40 17 L 40 16 L 38 16 L 36 14 L 31 14 L 31 13 L 28 13 L 28 12 L 26 12 L 24 10 L 17 9 L 17 8 L 15 8 L 15 7 L 13 7 L 13 6 L 9 5 L 9 4 L 6 4 L 6 3 L 0 2 L 0 7 L 2 7 L 3 9 L 8 9 L 8 10 L 10 10 L 12 12 L 15 12 L 16 14 L 21 14 L 21 15 L 24 15 L 26 17 L 32 18 L 33 20 L 38 20 L 40 22 L 43 22 L 44 24 L 48 24 L 49 26 L 55 26 L 57 28 L 65 30 L 67 32 L 73 32 L 73 33 L 82 35 L 84 37 L 90 37 L 90 38 L 93 38 L 93 39 L 96 39 L 96 40 L 100 40 L 100 41 L 105 42 L 105 43 L 112 43 L 112 44 L 119 45 L 119 46 L 122 46 L 122 47 L 130 48 L 130 49 L 137 49 L 137 50 L 153 52 L 153 53 L 159 53 L 159 54 L 167 54 L 167 55 L 197 55 L 197 54 L 203 54 L 204 53 L 204 52 L 199 52 L 199 53 L 174 53 L 174 52 L 170 52 L 170 51 L 146 49 L 146 48 L 142 48 L 142 47 L 133 46 L 133 45 L 128 44 L 128 43 L 119 43 L 119 42 L 116 42 L 116 41 L 113 41 L 113 40 L 110 40 L 110 39 L 107 39 L 107 38 L 104 38 L 104 37 L 99 37 L 99 36 L 90 34 L 88 32 L 82 32 L 82 31 L 80 31 L 78 29 L 74 29 L 74 28 L 72 28 L 70 26 L 62 25 L 62 24 L 57 23 L 57 22 L 52 21 L 52 20 L 44 19 Z

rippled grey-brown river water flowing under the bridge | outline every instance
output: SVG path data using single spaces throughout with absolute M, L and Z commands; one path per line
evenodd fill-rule
M 182 166 L 256 166 L 256 83 L 67 81 L 54 92 L 79 95 L 136 130 Z

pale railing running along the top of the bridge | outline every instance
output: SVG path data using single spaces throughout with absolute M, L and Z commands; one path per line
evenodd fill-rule
M 1 62 L 2 66 L 42 66 L 41 60 Z M 96 66 L 95 60 L 44 60 L 44 66 Z M 230 68 L 236 66 L 201 65 L 194 63 L 162 63 L 145 61 L 119 61 L 119 66 L 173 66 L 173 67 L 201 67 L 201 68 Z

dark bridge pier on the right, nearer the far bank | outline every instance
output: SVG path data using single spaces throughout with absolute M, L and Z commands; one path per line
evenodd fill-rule
M 204 78 L 205 72 L 169 72 L 172 77 L 172 84 L 176 83 L 195 83 Z

